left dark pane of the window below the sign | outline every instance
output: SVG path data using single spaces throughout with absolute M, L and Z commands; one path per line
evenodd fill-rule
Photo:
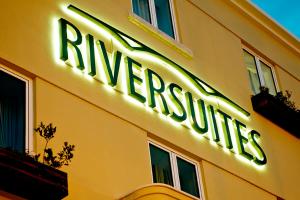
M 150 144 L 152 175 L 154 183 L 165 183 L 173 186 L 170 154 Z

